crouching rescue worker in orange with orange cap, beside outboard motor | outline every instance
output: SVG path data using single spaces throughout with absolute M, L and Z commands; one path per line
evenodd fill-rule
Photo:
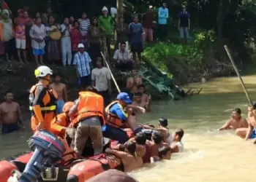
M 70 118 L 69 118 L 69 111 L 72 106 L 74 106 L 74 102 L 67 102 L 64 104 L 62 108 L 61 114 L 58 114 L 50 123 L 50 130 L 53 132 L 55 135 L 64 138 L 65 132 L 69 128 L 70 124 Z

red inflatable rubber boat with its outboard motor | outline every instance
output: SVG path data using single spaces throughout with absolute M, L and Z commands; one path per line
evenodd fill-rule
M 134 136 L 131 130 L 126 129 L 126 132 L 129 138 Z M 115 144 L 116 141 L 109 141 L 105 149 Z M 118 158 L 114 157 L 112 161 L 115 162 L 111 163 L 108 154 L 74 159 L 69 167 L 61 165 L 65 146 L 60 138 L 45 130 L 34 133 L 29 139 L 29 147 L 31 151 L 0 161 L 1 182 L 84 182 L 105 170 L 122 170 L 119 168 L 121 160 L 118 163 Z M 87 149 L 87 156 L 91 156 L 91 145 Z

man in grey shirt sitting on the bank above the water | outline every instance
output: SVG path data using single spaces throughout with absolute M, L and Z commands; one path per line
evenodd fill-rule
M 120 49 L 115 51 L 113 59 L 116 61 L 116 68 L 121 70 L 132 70 L 133 61 L 129 50 L 126 49 L 127 44 L 125 42 L 120 43 Z

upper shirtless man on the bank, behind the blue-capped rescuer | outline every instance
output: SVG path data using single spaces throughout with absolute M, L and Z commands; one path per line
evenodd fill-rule
M 131 74 L 132 76 L 127 79 L 127 90 L 129 90 L 129 98 L 133 100 L 133 95 L 138 92 L 138 85 L 142 84 L 142 79 L 135 69 L 132 69 Z

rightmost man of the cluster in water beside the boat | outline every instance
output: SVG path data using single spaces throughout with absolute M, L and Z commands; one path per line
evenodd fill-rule
M 176 132 L 173 133 L 173 143 L 170 145 L 170 149 L 173 153 L 178 153 L 184 150 L 184 145 L 181 142 L 181 139 L 184 136 L 184 130 L 177 129 Z

